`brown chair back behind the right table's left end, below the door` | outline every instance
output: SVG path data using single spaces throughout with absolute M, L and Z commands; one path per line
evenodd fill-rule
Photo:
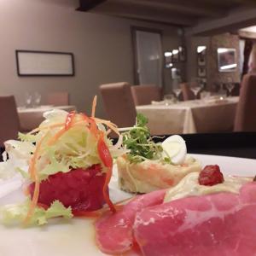
M 131 94 L 136 106 L 148 105 L 152 101 L 162 100 L 162 89 L 153 84 L 141 84 L 131 86 Z

